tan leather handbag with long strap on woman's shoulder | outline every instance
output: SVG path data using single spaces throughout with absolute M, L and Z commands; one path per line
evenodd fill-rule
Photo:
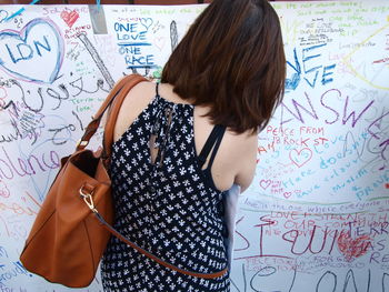
M 113 207 L 108 168 L 113 128 L 127 93 L 144 80 L 140 75 L 129 75 L 119 81 L 87 127 L 76 152 L 61 160 L 61 169 L 37 215 L 20 256 L 30 272 L 71 288 L 88 286 L 94 279 L 110 234 L 159 264 L 182 274 L 212 279 L 227 272 L 227 268 L 208 274 L 182 270 L 141 249 L 111 225 Z M 108 108 L 110 110 L 104 127 L 102 151 L 84 149 Z

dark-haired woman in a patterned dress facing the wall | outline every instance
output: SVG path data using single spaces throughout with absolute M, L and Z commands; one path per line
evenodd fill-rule
M 253 178 L 257 134 L 283 93 L 278 17 L 266 0 L 215 0 L 167 62 L 127 95 L 114 129 L 116 228 L 181 274 L 112 238 L 106 291 L 229 291 L 223 192 Z

